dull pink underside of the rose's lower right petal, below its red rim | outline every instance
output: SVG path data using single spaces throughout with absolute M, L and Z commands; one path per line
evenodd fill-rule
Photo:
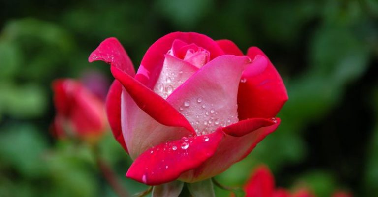
M 243 137 L 226 135 L 219 144 L 219 148 L 213 157 L 208 159 L 197 169 L 185 172 L 179 179 L 186 182 L 195 182 L 223 172 L 232 164 L 244 159 L 257 143 L 274 132 L 279 124 L 280 119 L 277 119 L 276 124 L 257 129 Z

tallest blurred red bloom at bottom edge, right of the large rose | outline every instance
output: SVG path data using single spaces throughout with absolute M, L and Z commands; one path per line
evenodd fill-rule
M 245 186 L 246 197 L 272 197 L 274 177 L 265 166 L 258 167 Z

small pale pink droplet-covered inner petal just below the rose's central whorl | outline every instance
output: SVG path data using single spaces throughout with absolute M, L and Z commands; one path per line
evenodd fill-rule
M 198 68 L 177 57 L 171 55 L 164 56 L 163 68 L 154 87 L 154 92 L 165 99 L 178 86 L 187 81 Z

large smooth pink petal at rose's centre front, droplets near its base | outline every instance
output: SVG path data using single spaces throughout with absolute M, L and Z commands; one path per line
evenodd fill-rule
M 238 122 L 240 76 L 247 67 L 255 66 L 254 62 L 246 56 L 219 56 L 178 87 L 167 101 L 185 115 L 199 135 Z

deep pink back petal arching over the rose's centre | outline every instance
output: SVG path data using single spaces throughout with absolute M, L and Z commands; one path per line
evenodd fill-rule
M 172 47 L 174 40 L 181 40 L 185 43 L 194 43 L 210 52 L 210 59 L 224 55 L 218 44 L 206 35 L 189 32 L 174 32 L 158 39 L 147 50 L 144 55 L 135 79 L 152 89 L 158 80 L 161 67 L 164 61 L 164 54 Z

